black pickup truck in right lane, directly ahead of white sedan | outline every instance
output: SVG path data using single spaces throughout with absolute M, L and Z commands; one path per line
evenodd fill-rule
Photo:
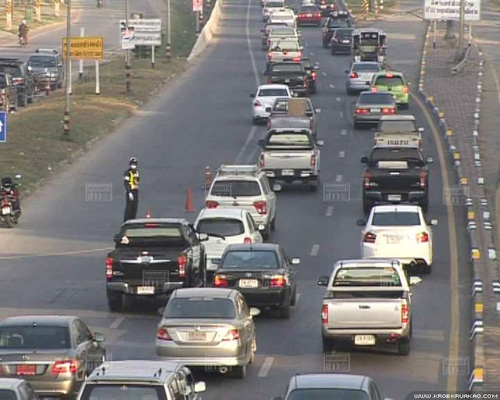
M 429 172 L 425 158 L 416 146 L 375 146 L 368 157 L 363 176 L 363 210 L 368 213 L 375 203 L 418 203 L 423 211 L 429 206 Z

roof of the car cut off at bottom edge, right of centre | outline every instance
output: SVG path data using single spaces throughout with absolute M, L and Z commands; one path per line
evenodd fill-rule
M 362 389 L 369 378 L 349 374 L 307 374 L 292 378 L 294 389 L 302 388 L 341 388 Z M 292 386 L 292 385 L 291 385 Z

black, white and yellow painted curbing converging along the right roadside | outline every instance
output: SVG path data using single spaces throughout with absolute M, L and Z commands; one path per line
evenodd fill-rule
M 485 352 L 484 352 L 484 325 L 483 325 L 483 310 L 484 300 L 483 289 L 485 289 L 484 278 L 485 271 L 488 277 L 494 276 L 495 280 L 487 282 L 491 285 L 491 290 L 494 293 L 500 293 L 500 282 L 496 279 L 496 254 L 494 246 L 492 225 L 490 222 L 490 212 L 488 209 L 488 201 L 484 191 L 484 177 L 481 170 L 481 156 L 479 154 L 479 124 L 481 117 L 481 93 L 483 86 L 483 54 L 479 47 L 479 71 L 477 83 L 476 106 L 474 111 L 474 130 L 472 134 L 473 140 L 473 161 L 471 164 L 475 167 L 475 176 L 477 182 L 471 185 L 469 181 L 472 177 L 467 177 L 462 169 L 462 156 L 457 150 L 457 143 L 460 138 L 455 137 L 453 129 L 448 125 L 444 113 L 434 103 L 434 98 L 428 96 L 424 92 L 425 67 L 428 41 L 430 37 L 430 25 L 427 28 L 425 37 L 424 49 L 422 51 L 422 62 L 420 69 L 420 81 L 418 85 L 418 94 L 424 100 L 426 106 L 432 111 L 432 115 L 438 123 L 443 142 L 448 148 L 450 161 L 453 163 L 457 176 L 458 185 L 463 189 L 463 193 L 467 194 L 466 211 L 467 211 L 467 233 L 470 243 L 470 263 L 473 268 L 473 283 L 472 283 L 472 326 L 470 330 L 469 340 L 472 344 L 472 363 L 470 377 L 468 381 L 468 389 L 472 393 L 482 392 L 484 382 L 485 369 Z M 471 187 L 472 186 L 472 187 Z

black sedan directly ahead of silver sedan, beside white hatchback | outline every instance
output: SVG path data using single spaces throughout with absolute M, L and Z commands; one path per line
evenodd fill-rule
M 278 244 L 229 245 L 217 267 L 214 286 L 239 290 L 251 307 L 278 310 L 290 318 L 290 306 L 297 301 L 297 286 L 290 259 Z

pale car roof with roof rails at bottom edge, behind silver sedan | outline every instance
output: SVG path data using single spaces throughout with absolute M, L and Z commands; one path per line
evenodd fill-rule
M 161 383 L 168 375 L 182 368 L 182 364 L 157 360 L 111 361 L 96 368 L 87 382 L 140 381 Z

